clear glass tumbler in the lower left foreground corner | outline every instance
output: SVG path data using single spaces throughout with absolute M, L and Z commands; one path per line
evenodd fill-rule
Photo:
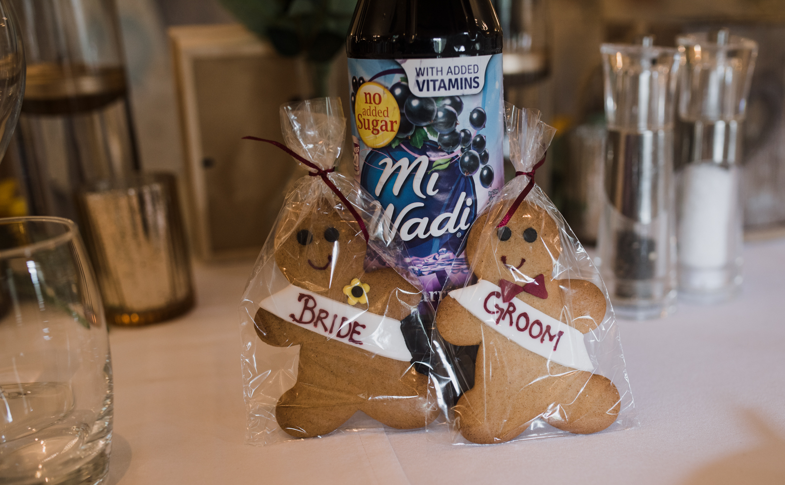
M 104 309 L 75 224 L 0 220 L 0 482 L 100 483 L 111 418 Z

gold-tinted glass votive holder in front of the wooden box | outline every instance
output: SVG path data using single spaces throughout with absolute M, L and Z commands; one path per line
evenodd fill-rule
M 191 260 L 173 174 L 98 181 L 76 199 L 110 323 L 162 322 L 193 308 Z

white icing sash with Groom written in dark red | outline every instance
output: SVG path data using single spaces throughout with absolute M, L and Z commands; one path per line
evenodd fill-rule
M 502 289 L 495 284 L 480 279 L 476 285 L 452 290 L 450 296 L 517 345 L 563 366 L 593 371 L 579 330 L 517 298 L 502 302 Z

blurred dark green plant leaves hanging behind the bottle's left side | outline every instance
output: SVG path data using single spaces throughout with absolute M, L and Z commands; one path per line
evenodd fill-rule
M 316 96 L 327 96 L 330 60 L 346 41 L 357 0 L 221 0 L 238 20 L 285 57 L 312 67 Z

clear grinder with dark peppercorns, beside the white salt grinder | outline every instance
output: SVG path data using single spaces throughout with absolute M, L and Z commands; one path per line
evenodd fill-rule
M 604 44 L 608 139 L 597 235 L 601 274 L 616 314 L 663 317 L 675 309 L 674 100 L 680 54 Z

